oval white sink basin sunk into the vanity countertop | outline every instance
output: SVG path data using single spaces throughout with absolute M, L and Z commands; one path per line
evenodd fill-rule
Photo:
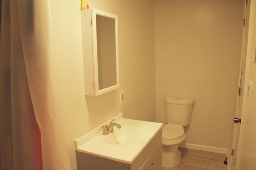
M 122 126 L 122 128 L 116 128 L 113 132 L 102 138 L 102 141 L 106 144 L 132 146 L 144 138 L 144 130 L 132 126 Z

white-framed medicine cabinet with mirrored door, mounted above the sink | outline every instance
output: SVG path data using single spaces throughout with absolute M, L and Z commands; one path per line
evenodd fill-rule
M 118 16 L 82 10 L 85 95 L 98 96 L 119 87 Z

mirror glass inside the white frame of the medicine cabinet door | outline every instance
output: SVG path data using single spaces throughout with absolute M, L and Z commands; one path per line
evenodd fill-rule
M 96 14 L 99 90 L 117 84 L 115 19 Z

